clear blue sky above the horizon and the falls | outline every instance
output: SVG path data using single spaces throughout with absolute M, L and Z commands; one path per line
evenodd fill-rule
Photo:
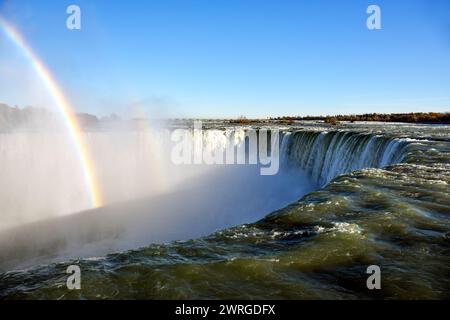
M 81 8 L 81 30 L 66 8 Z M 381 8 L 381 30 L 366 9 Z M 266 117 L 450 111 L 448 0 L 0 0 L 77 111 Z M 48 102 L 0 32 L 0 103 Z

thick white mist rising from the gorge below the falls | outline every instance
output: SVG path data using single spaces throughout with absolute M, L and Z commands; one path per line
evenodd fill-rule
M 204 147 L 220 148 L 223 134 L 210 130 Z M 147 122 L 85 130 L 83 138 L 102 194 L 98 209 L 61 127 L 0 134 L 0 270 L 206 236 L 315 188 L 285 167 L 261 176 L 259 165 L 175 165 L 170 131 Z

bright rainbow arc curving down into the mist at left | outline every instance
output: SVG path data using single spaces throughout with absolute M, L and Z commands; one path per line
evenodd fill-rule
M 16 44 L 16 46 L 23 52 L 25 57 L 31 62 L 36 73 L 45 84 L 48 92 L 54 100 L 58 110 L 61 112 L 65 125 L 70 133 L 74 146 L 76 148 L 79 161 L 84 173 L 84 180 L 86 187 L 89 190 L 91 205 L 94 208 L 102 206 L 102 199 L 97 181 L 94 175 L 94 165 L 89 156 L 88 148 L 84 142 L 80 125 L 72 112 L 72 107 L 64 96 L 64 92 L 55 81 L 54 77 L 33 52 L 30 46 L 25 42 L 21 34 L 6 20 L 0 17 L 0 29 Z

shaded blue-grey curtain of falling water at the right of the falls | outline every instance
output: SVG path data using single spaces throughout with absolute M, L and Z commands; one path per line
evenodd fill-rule
M 285 166 L 305 171 L 320 186 L 338 175 L 401 162 L 408 143 L 351 131 L 285 133 L 281 142 Z

